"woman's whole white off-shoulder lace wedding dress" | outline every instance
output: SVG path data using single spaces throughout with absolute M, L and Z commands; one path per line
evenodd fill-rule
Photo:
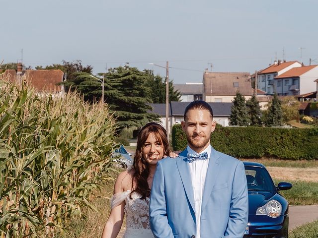
M 116 193 L 111 198 L 111 208 L 125 201 L 126 231 L 124 238 L 154 238 L 149 223 L 150 198 L 140 199 L 141 195 L 134 192 L 130 199 L 130 190 Z

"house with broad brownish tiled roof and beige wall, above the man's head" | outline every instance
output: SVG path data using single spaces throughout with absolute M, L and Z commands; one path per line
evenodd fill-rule
M 203 100 L 206 102 L 231 103 L 237 92 L 246 100 L 253 95 L 248 72 L 204 72 Z

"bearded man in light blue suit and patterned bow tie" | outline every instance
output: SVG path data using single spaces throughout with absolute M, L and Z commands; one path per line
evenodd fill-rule
M 248 218 L 244 165 L 210 145 L 216 122 L 204 101 L 190 103 L 181 122 L 188 146 L 157 164 L 150 222 L 157 238 L 242 238 Z

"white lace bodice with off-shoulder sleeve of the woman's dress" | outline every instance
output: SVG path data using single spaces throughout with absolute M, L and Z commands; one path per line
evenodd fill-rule
M 141 195 L 134 192 L 130 198 L 130 190 L 116 193 L 111 198 L 111 208 L 125 201 L 126 229 L 150 230 L 149 202 L 150 198 L 140 199 Z

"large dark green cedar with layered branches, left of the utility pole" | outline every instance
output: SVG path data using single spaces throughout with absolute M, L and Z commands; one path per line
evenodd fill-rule
M 135 67 L 111 68 L 107 73 L 105 90 L 106 103 L 117 118 L 119 130 L 127 127 L 140 127 L 151 120 L 158 120 L 158 115 L 148 113 L 152 108 L 149 75 Z

